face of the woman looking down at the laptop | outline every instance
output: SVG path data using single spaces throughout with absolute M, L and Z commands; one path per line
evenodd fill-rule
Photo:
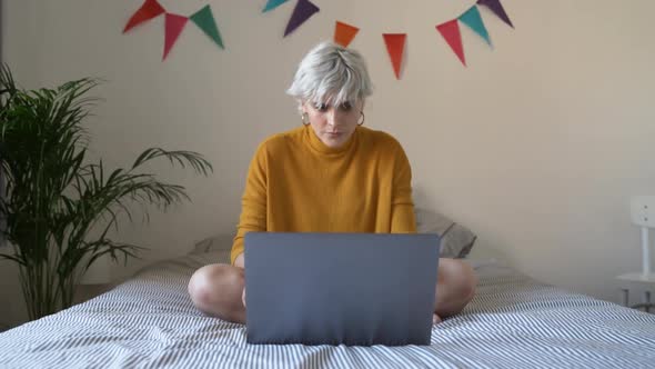
M 333 107 L 328 102 L 305 101 L 302 104 L 303 113 L 308 114 L 310 124 L 329 148 L 340 148 L 343 146 L 357 128 L 361 120 L 364 101 L 344 102 L 339 107 Z

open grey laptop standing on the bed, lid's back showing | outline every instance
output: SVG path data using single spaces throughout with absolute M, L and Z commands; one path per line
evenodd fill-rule
M 245 235 L 249 343 L 430 345 L 440 239 Z

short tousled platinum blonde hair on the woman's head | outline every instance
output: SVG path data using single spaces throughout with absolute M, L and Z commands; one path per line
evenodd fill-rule
M 373 88 L 362 56 L 352 49 L 324 41 L 302 59 L 286 93 L 305 101 L 340 106 L 371 96 Z

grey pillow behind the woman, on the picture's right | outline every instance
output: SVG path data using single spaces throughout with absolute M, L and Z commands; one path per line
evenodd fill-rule
M 442 258 L 465 258 L 477 236 L 436 211 L 414 207 L 416 215 L 416 231 L 419 233 L 436 233 L 441 237 Z

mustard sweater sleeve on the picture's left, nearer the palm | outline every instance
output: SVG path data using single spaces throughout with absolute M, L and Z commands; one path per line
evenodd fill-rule
M 241 198 L 241 217 L 230 252 L 231 263 L 243 252 L 243 237 L 251 231 L 266 230 L 266 148 L 260 144 L 248 169 L 245 189 Z

